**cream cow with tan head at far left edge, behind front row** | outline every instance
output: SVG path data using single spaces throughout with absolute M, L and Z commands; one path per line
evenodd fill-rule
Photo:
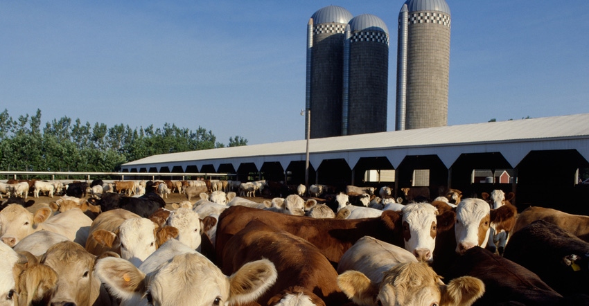
M 86 243 L 92 219 L 73 208 L 53 216 L 51 208 L 39 208 L 33 215 L 18 204 L 10 204 L 0 211 L 0 239 L 15 246 L 36 231 L 51 231 L 68 237 L 81 245 Z

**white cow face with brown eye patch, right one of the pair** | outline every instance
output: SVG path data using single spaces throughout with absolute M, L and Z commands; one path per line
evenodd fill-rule
M 456 252 L 464 254 L 473 246 L 486 246 L 491 226 L 491 208 L 482 199 L 462 200 L 456 208 Z

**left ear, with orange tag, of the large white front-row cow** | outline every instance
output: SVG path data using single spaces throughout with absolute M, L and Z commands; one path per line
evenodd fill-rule
M 103 282 L 116 298 L 130 300 L 133 296 L 145 294 L 146 275 L 129 260 L 114 257 L 102 258 L 96 262 L 94 272 L 100 278 L 100 282 Z

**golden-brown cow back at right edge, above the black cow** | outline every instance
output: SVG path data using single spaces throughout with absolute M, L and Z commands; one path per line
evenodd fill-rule
M 540 219 L 555 224 L 581 240 L 589 242 L 589 216 L 571 215 L 552 208 L 536 206 L 526 208 L 518 215 L 513 232 L 515 233 L 531 222 Z

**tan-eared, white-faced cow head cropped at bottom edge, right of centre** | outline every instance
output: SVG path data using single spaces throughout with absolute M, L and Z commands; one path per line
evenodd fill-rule
M 478 278 L 462 276 L 444 285 L 423 262 L 403 262 L 372 282 L 360 271 L 345 271 L 337 285 L 358 305 L 471 305 L 484 294 Z

